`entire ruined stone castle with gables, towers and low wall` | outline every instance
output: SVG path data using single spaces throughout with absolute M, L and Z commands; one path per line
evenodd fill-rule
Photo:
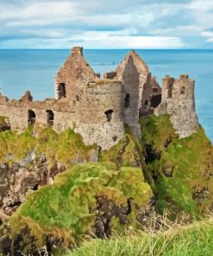
M 161 88 L 141 57 L 131 51 L 116 68 L 101 78 L 83 56 L 83 48 L 71 55 L 55 78 L 55 99 L 34 101 L 30 92 L 22 99 L 0 95 L 0 116 L 9 118 L 11 129 L 23 131 L 28 125 L 52 126 L 55 131 L 72 128 L 85 144 L 110 149 L 124 135 L 124 125 L 141 137 L 139 118 L 170 114 L 180 138 L 198 129 L 194 107 L 194 81 L 187 75 L 179 80 L 169 76 Z

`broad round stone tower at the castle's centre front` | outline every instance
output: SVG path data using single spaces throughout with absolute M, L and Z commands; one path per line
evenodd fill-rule
M 121 81 L 99 80 L 85 87 L 75 129 L 85 144 L 97 143 L 105 150 L 123 137 L 123 92 Z

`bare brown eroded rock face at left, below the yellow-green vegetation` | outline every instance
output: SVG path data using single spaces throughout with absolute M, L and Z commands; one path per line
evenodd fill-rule
M 91 150 L 90 162 L 97 162 L 97 156 L 97 150 Z M 9 159 L 12 158 L 9 156 Z M 79 157 L 73 159 L 71 164 L 84 162 L 85 159 Z M 22 204 L 25 195 L 39 186 L 53 184 L 54 177 L 65 170 L 63 163 L 55 163 L 49 169 L 45 155 L 34 157 L 33 151 L 28 152 L 22 162 L 0 163 L 0 219 L 7 219 L 7 215 L 13 214 Z

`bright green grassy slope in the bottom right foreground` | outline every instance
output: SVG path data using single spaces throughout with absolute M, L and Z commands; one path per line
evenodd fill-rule
M 78 249 L 55 256 L 211 256 L 212 240 L 212 222 L 201 221 L 157 234 L 135 232 L 110 240 L 85 241 Z

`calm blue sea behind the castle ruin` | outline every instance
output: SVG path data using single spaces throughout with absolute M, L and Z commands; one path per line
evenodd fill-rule
M 196 80 L 201 125 L 213 141 L 213 50 L 137 50 L 161 84 L 166 74 Z M 128 50 L 85 50 L 96 72 L 115 69 Z M 0 50 L 0 85 L 10 99 L 30 90 L 34 99 L 54 97 L 54 76 L 69 50 Z M 115 65 L 113 65 L 113 62 Z

